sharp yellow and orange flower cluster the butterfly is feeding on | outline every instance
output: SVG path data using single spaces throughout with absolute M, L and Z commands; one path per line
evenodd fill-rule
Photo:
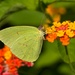
M 64 21 L 53 22 L 53 25 L 45 26 L 46 40 L 54 42 L 55 39 L 59 39 L 62 45 L 68 45 L 70 38 L 75 37 L 75 22 Z

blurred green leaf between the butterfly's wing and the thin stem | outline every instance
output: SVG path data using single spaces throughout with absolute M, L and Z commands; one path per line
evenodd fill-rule
M 43 52 L 41 53 L 39 59 L 35 63 L 35 67 L 45 67 L 52 65 L 60 59 L 57 42 L 50 43 L 44 41 Z

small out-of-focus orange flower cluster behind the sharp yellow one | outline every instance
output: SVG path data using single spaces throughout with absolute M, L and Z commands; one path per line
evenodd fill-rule
M 46 8 L 46 13 L 51 16 L 53 21 L 59 22 L 61 19 L 61 15 L 63 15 L 66 12 L 65 8 L 60 7 L 57 8 L 53 4 L 50 4 Z

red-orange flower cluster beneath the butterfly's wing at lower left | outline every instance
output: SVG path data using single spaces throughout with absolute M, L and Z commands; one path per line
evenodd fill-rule
M 31 67 L 33 63 L 17 58 L 7 46 L 0 49 L 0 75 L 18 75 L 18 68 L 26 65 Z

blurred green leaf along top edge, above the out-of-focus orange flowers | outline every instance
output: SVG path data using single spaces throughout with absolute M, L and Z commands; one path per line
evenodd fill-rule
M 71 7 L 75 6 L 75 0 L 43 0 L 44 3 L 54 4 L 55 7 Z

